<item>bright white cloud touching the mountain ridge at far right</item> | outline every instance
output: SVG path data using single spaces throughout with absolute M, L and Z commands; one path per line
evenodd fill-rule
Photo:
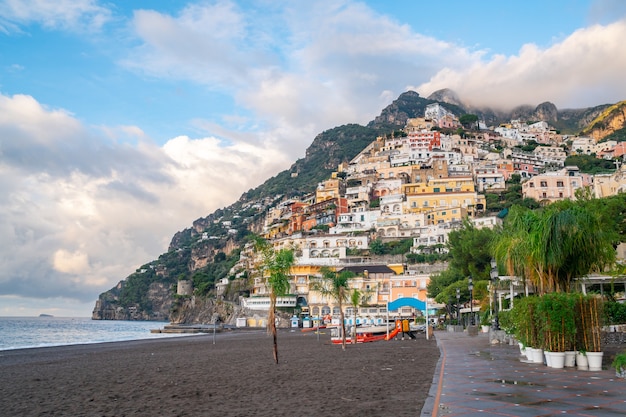
M 445 68 L 417 87 L 428 95 L 451 88 L 476 106 L 511 108 L 551 101 L 559 108 L 617 102 L 626 97 L 626 20 L 580 29 L 546 49 L 524 45 L 518 55 Z

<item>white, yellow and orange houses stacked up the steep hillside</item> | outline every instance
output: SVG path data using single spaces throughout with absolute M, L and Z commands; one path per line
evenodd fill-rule
M 258 317 L 247 325 L 262 325 L 269 291 L 264 277 L 255 273 L 258 256 L 252 242 L 239 248 L 233 243 L 254 232 L 275 249 L 291 248 L 296 255 L 290 295 L 279 299 L 278 307 L 295 309 L 303 317 L 336 315 L 333 301 L 310 285 L 323 267 L 331 267 L 351 271 L 351 288 L 367 295 L 362 305 L 345 308 L 347 317 L 357 309 L 359 320 L 375 322 L 390 301 L 427 300 L 430 276 L 446 268 L 449 233 L 465 220 L 476 228 L 501 224 L 506 209 L 499 202 L 511 184 L 521 185 L 519 200 L 534 207 L 576 199 L 580 193 L 602 198 L 626 191 L 625 144 L 561 134 L 546 121 L 516 119 L 487 126 L 477 116 L 459 116 L 432 103 L 423 116 L 408 118 L 402 129 L 377 137 L 340 163 L 314 192 L 249 199 L 237 210 L 197 220 L 187 234 L 173 239 L 167 256 L 121 281 L 117 291 L 103 294 L 94 318 L 206 321 L 209 314 L 189 315 L 191 305 L 206 307 L 195 299 L 185 301 L 195 294 L 230 300 L 235 307 L 220 311 L 230 321 L 243 315 Z M 612 169 L 583 173 L 565 163 L 575 155 L 606 161 Z M 377 248 L 389 242 L 401 242 L 397 254 L 378 256 Z M 172 267 L 185 253 L 182 247 L 189 247 L 191 273 Z M 233 255 L 238 257 L 222 278 L 216 279 L 215 271 L 213 276 L 199 272 Z M 126 286 L 140 275 L 177 277 L 179 298 L 173 308 L 171 284 L 153 282 L 150 288 L 156 304 L 172 310 L 171 317 L 138 315 L 146 308 L 128 301 L 123 305 Z M 209 309 L 218 304 L 210 303 Z M 419 312 L 406 308 L 399 314 Z

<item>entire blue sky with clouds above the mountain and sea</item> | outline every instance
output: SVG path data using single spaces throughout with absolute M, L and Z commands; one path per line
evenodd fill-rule
M 177 231 L 408 90 L 626 99 L 621 0 L 0 0 L 0 316 L 89 317 Z

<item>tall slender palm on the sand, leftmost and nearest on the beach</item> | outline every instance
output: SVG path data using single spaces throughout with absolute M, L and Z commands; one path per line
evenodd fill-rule
M 267 313 L 267 332 L 272 335 L 274 361 L 278 363 L 278 341 L 276 332 L 276 298 L 289 291 L 289 271 L 295 262 L 293 250 L 274 251 L 267 241 L 257 239 L 255 247 L 263 257 L 261 275 L 267 276 L 270 290 L 270 307 Z

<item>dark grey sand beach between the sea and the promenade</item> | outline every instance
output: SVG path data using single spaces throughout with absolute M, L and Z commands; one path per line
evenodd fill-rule
M 2 416 L 419 416 L 436 341 L 264 331 L 0 351 Z

